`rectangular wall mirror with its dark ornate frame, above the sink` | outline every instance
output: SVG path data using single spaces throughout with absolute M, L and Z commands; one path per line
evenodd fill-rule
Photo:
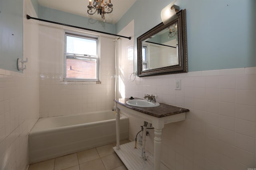
M 188 72 L 186 10 L 137 38 L 138 76 Z

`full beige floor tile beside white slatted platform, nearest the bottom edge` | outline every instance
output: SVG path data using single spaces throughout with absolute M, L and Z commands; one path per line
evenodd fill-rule
M 104 156 L 101 158 L 101 160 L 106 170 L 112 170 L 113 168 L 117 168 L 123 165 L 123 162 L 120 160 L 116 153 Z

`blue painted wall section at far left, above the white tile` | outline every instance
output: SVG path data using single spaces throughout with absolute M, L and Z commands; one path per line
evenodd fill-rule
M 0 0 L 0 68 L 16 72 L 23 58 L 23 0 Z

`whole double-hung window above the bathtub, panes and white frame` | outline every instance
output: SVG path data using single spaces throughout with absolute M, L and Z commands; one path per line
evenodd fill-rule
M 99 81 L 98 37 L 65 33 L 64 80 Z

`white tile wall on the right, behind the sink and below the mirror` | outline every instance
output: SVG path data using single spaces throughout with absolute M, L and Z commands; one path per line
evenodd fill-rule
M 120 33 L 133 35 L 134 23 Z M 120 51 L 131 43 L 122 39 Z M 126 46 L 127 45 L 127 46 Z M 136 54 L 136 51 L 135 51 Z M 120 98 L 157 96 L 158 102 L 190 109 L 186 120 L 165 125 L 162 160 L 171 170 L 247 170 L 256 168 L 256 67 L 209 70 L 129 80 L 133 63 L 121 53 L 124 91 Z M 174 90 L 181 79 L 181 90 Z M 152 91 L 150 91 L 152 90 Z M 140 131 L 142 121 L 130 116 L 130 139 Z M 154 133 L 147 137 L 153 153 Z

